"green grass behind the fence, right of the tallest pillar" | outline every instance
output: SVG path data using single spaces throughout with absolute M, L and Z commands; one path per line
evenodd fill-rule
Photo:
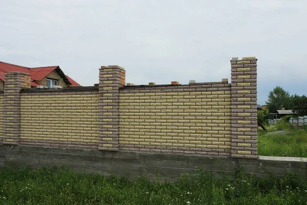
M 292 129 L 291 124 L 284 121 L 268 127 L 269 132 L 279 129 L 288 131 L 290 134 L 265 135 L 267 132 L 258 130 L 258 155 L 307 157 L 307 129 Z

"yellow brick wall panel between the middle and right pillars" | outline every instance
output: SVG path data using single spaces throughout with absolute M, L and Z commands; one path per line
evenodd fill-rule
M 230 153 L 230 88 L 229 91 L 141 92 L 120 93 L 121 150 Z

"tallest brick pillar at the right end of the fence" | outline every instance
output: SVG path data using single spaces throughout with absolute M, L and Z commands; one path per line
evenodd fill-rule
M 231 156 L 257 158 L 257 59 L 232 58 Z

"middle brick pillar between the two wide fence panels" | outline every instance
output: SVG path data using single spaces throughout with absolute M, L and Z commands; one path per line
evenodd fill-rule
M 125 70 L 119 66 L 99 69 L 99 150 L 119 151 L 119 87 Z

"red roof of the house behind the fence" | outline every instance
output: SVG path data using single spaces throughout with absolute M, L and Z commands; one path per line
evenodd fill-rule
M 32 80 L 31 86 L 38 86 L 38 84 L 33 80 L 41 80 L 55 69 L 57 69 L 57 72 L 63 78 L 63 80 L 67 85 L 71 84 L 71 86 L 80 86 L 75 80 L 73 80 L 68 76 L 65 76 L 65 74 L 63 73 L 63 71 L 60 69 L 59 66 L 27 68 L 24 66 L 17 66 L 2 61 L 0 61 L 0 79 L 4 81 L 4 74 L 7 72 L 12 72 L 12 71 L 25 72 L 31 75 L 31 80 Z

